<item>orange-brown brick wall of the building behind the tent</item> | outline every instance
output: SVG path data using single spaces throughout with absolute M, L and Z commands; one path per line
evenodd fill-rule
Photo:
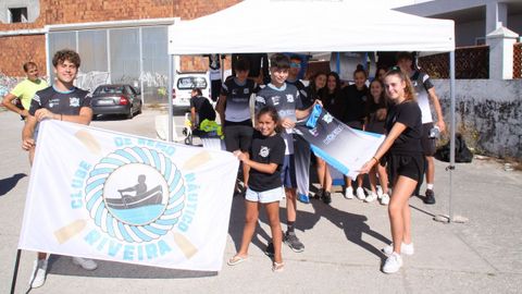
M 34 23 L 2 24 L 0 30 L 40 29 L 45 25 L 182 17 L 191 20 L 226 9 L 240 0 L 40 0 Z M 23 76 L 21 65 L 33 60 L 46 70 L 45 36 L 0 37 L 0 73 Z M 207 70 L 207 60 L 182 59 L 182 70 Z M 47 73 L 45 73 L 47 74 Z

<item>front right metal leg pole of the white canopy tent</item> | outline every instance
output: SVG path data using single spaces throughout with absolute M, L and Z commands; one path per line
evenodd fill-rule
M 455 50 L 449 52 L 449 91 L 450 91 L 450 107 L 449 107 L 449 120 L 450 120 L 450 135 L 449 135 L 449 223 L 453 221 L 453 207 L 452 207 L 452 195 L 453 195 L 453 183 L 452 183 L 452 173 L 455 170 Z

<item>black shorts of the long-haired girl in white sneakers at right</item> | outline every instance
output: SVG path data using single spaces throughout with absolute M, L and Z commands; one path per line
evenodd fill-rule
M 395 184 L 399 175 L 408 176 L 417 182 L 422 177 L 424 170 L 424 157 L 418 155 L 387 155 L 389 182 Z

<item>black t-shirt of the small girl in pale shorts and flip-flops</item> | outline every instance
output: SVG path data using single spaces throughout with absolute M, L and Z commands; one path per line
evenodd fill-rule
M 265 137 L 259 132 L 253 133 L 250 159 L 260 163 L 277 163 L 274 173 L 260 172 L 250 168 L 248 187 L 256 192 L 263 192 L 281 187 L 281 168 L 285 159 L 285 142 L 279 134 Z

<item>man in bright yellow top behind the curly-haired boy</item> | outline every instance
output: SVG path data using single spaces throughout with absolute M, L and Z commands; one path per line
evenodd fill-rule
M 24 72 L 27 78 L 17 84 L 11 93 L 3 97 L 2 106 L 18 113 L 22 119 L 25 120 L 25 118 L 29 115 L 30 99 L 33 99 L 35 93 L 47 88 L 49 85 L 45 79 L 39 77 L 38 65 L 36 65 L 36 63 L 32 61 L 24 63 Z M 20 103 L 14 103 L 16 98 Z

